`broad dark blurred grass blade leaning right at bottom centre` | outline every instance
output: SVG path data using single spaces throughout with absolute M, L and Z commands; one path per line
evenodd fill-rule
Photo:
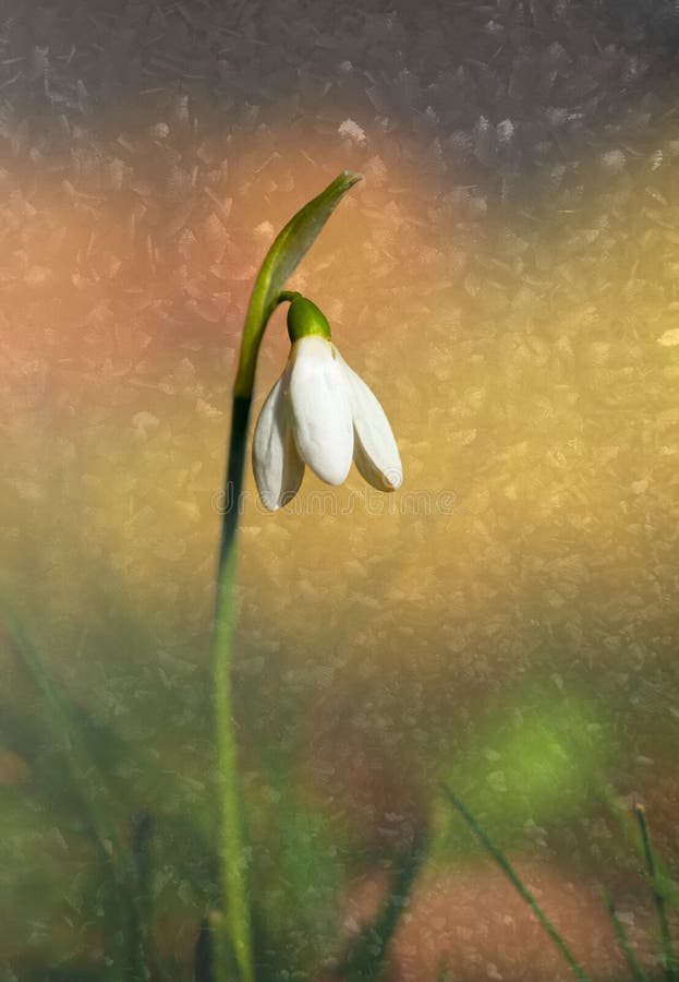
M 347 982 L 377 982 L 386 969 L 389 943 L 396 934 L 401 914 L 422 869 L 427 849 L 427 836 L 415 839 L 389 888 L 375 921 L 365 927 L 340 968 Z

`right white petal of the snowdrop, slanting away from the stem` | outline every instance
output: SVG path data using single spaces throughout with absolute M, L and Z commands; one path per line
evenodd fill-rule
M 365 480 L 379 491 L 395 491 L 403 483 L 403 467 L 389 420 L 373 391 L 337 352 L 351 392 L 354 462 Z

